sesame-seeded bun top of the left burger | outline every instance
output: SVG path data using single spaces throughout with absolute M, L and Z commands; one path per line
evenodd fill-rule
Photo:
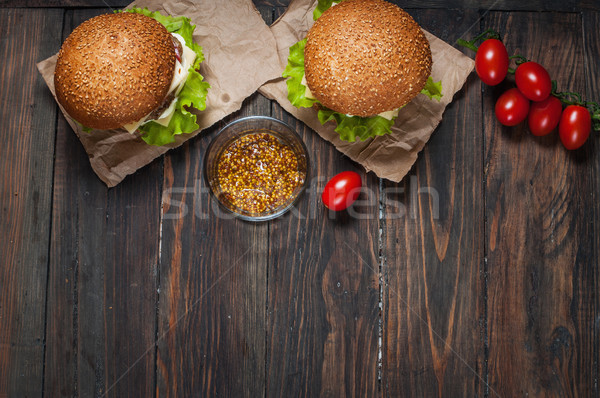
M 175 59 L 173 37 L 155 19 L 100 15 L 63 43 L 54 72 L 56 97 L 86 127 L 119 128 L 162 105 Z

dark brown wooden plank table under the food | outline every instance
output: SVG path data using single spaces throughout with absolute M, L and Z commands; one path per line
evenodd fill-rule
M 288 1 L 255 3 L 271 23 Z M 401 3 L 600 99 L 598 1 Z M 395 184 L 255 94 L 107 189 L 35 68 L 107 11 L 0 6 L 0 397 L 599 396 L 597 134 L 568 152 L 501 127 L 506 86 L 473 75 Z M 320 178 L 275 221 L 214 217 L 204 151 L 254 114 L 294 126 Z M 365 189 L 333 215 L 319 192 L 343 170 Z

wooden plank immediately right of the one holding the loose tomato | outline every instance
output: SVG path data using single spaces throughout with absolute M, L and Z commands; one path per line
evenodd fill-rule
M 449 43 L 479 29 L 473 11 L 409 11 Z M 385 396 L 487 393 L 480 102 L 472 75 L 409 175 L 383 185 Z

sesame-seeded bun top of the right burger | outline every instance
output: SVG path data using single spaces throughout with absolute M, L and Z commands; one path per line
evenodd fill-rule
M 308 32 L 308 88 L 324 106 L 374 116 L 412 100 L 431 74 L 431 50 L 419 25 L 382 0 L 346 0 Z

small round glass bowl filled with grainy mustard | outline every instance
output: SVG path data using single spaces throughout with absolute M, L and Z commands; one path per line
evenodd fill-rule
M 306 189 L 309 158 L 287 124 L 249 116 L 225 126 L 208 146 L 204 177 L 222 208 L 246 221 L 288 211 Z

